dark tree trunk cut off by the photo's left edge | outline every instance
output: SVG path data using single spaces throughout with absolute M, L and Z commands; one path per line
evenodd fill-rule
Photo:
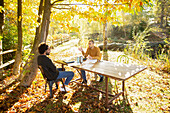
M 4 0 L 0 0 L 0 6 L 4 7 Z M 0 12 L 0 52 L 2 52 L 2 38 L 3 38 L 3 25 L 4 25 L 4 11 Z M 0 55 L 0 65 L 2 65 L 2 55 Z M 3 69 L 0 69 L 0 79 L 3 76 Z

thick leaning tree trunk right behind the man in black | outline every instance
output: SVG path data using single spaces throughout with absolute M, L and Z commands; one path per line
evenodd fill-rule
M 40 3 L 40 5 L 42 5 L 42 4 Z M 40 12 L 41 8 L 39 8 L 39 12 Z M 34 46 L 33 46 L 32 52 L 31 52 L 33 54 L 29 56 L 29 59 L 28 59 L 26 65 L 24 66 L 23 73 L 21 75 L 21 79 L 22 79 L 21 85 L 22 86 L 30 86 L 32 81 L 36 77 L 37 70 L 38 70 L 38 66 L 37 66 L 38 50 L 37 50 L 37 48 L 38 48 L 39 43 L 46 40 L 46 36 L 47 36 L 46 29 L 48 29 L 47 27 L 49 27 L 49 26 L 47 26 L 47 22 L 48 22 L 48 20 L 50 20 L 51 0 L 45 0 L 43 11 L 44 11 L 44 13 L 43 13 L 43 20 L 41 23 L 41 28 L 36 29 L 36 30 L 38 30 L 38 31 L 36 31 L 37 36 L 35 37 L 35 39 L 37 41 L 34 41 Z M 40 31 L 40 34 L 37 33 L 39 31 Z

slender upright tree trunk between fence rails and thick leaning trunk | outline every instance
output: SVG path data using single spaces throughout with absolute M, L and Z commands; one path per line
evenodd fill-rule
M 22 61 L 22 0 L 18 0 L 18 46 L 15 56 L 13 74 L 19 74 L 20 64 Z

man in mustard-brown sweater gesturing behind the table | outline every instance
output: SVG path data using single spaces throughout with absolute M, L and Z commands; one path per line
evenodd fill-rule
M 94 41 L 93 40 L 89 40 L 89 47 L 87 48 L 86 50 L 86 53 L 84 53 L 82 47 L 81 48 L 78 48 L 79 51 L 82 52 L 83 56 L 85 58 L 88 58 L 88 59 L 97 59 L 97 60 L 101 60 L 101 57 L 100 57 L 100 49 L 98 47 L 95 47 L 94 46 Z M 85 71 L 84 70 L 81 70 L 81 74 L 82 74 L 82 77 L 83 77 L 83 82 L 82 83 L 87 83 L 87 80 L 86 80 L 86 75 L 85 75 Z M 103 76 L 102 75 L 99 75 L 100 76 L 100 80 L 99 82 L 102 82 L 103 81 Z

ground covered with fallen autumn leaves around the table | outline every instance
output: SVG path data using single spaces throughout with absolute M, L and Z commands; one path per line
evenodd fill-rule
M 78 41 L 73 40 L 54 48 L 51 59 L 64 60 L 79 55 L 76 43 Z M 121 54 L 109 51 L 109 61 L 116 61 Z M 140 61 L 130 58 L 129 63 L 140 64 Z M 56 66 L 61 67 L 59 64 Z M 73 79 L 80 77 L 75 69 L 66 67 L 66 70 L 75 73 Z M 17 76 L 11 75 L 10 71 L 6 75 L 0 81 L 0 112 L 170 112 L 170 75 L 150 68 L 128 79 L 124 99 L 120 96 L 108 109 L 105 108 L 104 94 L 75 82 L 70 83 L 72 90 L 67 93 L 53 85 L 53 98 L 49 98 L 50 92 L 47 88 L 45 93 L 45 81 L 40 71 L 30 87 L 21 87 L 16 81 Z M 94 74 L 87 73 L 87 79 L 90 86 L 105 90 L 105 82 L 95 81 Z M 115 80 L 109 79 L 109 92 L 112 94 L 115 89 L 121 90 L 121 81 L 116 83 L 118 89 Z

